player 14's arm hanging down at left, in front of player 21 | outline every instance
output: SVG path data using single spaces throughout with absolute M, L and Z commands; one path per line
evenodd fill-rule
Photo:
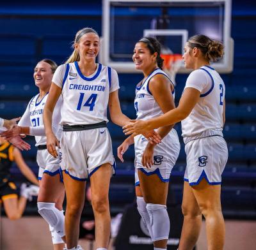
M 54 82 L 52 82 L 43 114 L 45 135 L 47 138 L 47 150 L 55 158 L 58 156 L 58 153 L 56 151 L 56 145 L 60 148 L 60 143 L 52 131 L 52 114 L 54 107 L 60 97 L 60 94 L 61 88 L 58 87 L 58 85 L 54 84 Z

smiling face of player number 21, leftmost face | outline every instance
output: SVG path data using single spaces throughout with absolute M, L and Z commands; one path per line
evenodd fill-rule
M 45 89 L 51 86 L 52 83 L 52 68 L 51 65 L 43 61 L 36 64 L 34 70 L 35 85 L 40 89 Z

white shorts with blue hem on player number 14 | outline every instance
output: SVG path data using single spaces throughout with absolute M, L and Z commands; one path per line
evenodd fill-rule
M 70 177 L 87 180 L 101 165 L 109 163 L 115 174 L 108 128 L 63 131 L 60 140 L 60 166 Z

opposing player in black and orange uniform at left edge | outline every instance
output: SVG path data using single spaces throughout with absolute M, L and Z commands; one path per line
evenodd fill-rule
M 20 186 L 20 197 L 17 187 L 12 180 L 10 168 L 15 161 L 20 172 L 34 185 Z M 0 203 L 3 202 L 4 211 L 9 219 L 20 219 L 27 200 L 38 195 L 38 180 L 28 165 L 26 165 L 19 149 L 13 147 L 9 142 L 0 137 Z

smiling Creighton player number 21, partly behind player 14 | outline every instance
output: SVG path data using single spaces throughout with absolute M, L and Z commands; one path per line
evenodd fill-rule
M 39 88 L 28 104 L 26 111 L 22 115 L 19 126 L 14 126 L 12 130 L 2 133 L 3 136 L 17 136 L 20 134 L 33 135 L 38 149 L 36 161 L 39 166 L 38 179 L 40 191 L 38 194 L 38 212 L 49 223 L 52 234 L 54 250 L 62 250 L 65 247 L 64 214 L 62 203 L 64 200 L 64 185 L 60 181 L 59 160 L 52 157 L 47 151 L 46 136 L 43 124 L 43 112 L 51 81 L 57 64 L 50 59 L 44 59 L 36 64 L 34 80 Z M 60 140 L 60 107 L 62 98 L 58 99 L 54 110 L 52 129 L 58 140 Z

